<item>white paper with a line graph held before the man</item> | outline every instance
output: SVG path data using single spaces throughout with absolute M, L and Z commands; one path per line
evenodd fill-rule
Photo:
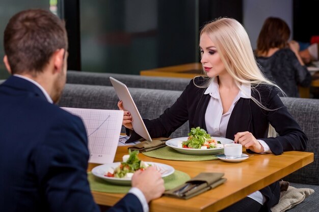
M 63 108 L 82 118 L 87 135 L 91 163 L 112 163 L 122 127 L 123 111 Z

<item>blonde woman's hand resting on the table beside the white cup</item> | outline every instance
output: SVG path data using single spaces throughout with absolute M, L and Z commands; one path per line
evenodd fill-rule
M 234 141 L 235 143 L 242 144 L 245 148 L 249 148 L 255 153 L 264 152 L 263 146 L 257 141 L 253 134 L 248 131 L 236 133 Z

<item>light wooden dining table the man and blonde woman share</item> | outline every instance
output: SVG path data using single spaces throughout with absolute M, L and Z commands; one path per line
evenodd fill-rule
M 245 153 L 245 150 L 244 150 Z M 127 146 L 119 146 L 115 162 L 122 161 L 128 154 Z M 161 197 L 150 203 L 150 211 L 219 211 L 247 195 L 280 180 L 284 176 L 313 162 L 313 153 L 285 152 L 280 156 L 273 154 L 249 154 L 250 157 L 240 163 L 228 163 L 221 160 L 211 161 L 170 161 L 155 159 L 139 154 L 143 161 L 171 165 L 175 170 L 188 173 L 191 177 L 200 172 L 223 172 L 227 181 L 210 191 L 188 200 Z M 97 164 L 89 164 L 89 170 Z M 112 194 L 92 191 L 97 204 L 114 205 L 124 194 Z

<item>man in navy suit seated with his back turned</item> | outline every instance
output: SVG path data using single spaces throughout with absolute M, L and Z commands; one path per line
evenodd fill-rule
M 57 103 L 66 82 L 67 34 L 62 20 L 34 9 L 14 15 L 4 33 L 0 85 L 0 210 L 99 211 L 87 180 L 88 139 L 81 118 Z M 164 192 L 151 167 L 110 211 L 148 211 Z

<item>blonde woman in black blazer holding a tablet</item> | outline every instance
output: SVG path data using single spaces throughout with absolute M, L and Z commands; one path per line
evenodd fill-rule
M 191 80 L 161 116 L 144 119 L 151 137 L 168 137 L 189 120 L 190 128 L 201 127 L 211 136 L 232 139 L 248 152 L 280 155 L 306 148 L 306 135 L 281 102 L 280 88 L 258 69 L 248 35 L 239 22 L 220 18 L 206 24 L 199 48 L 207 77 Z M 118 106 L 125 110 L 121 101 Z M 134 130 L 129 112 L 124 114 L 123 125 Z M 270 124 L 279 136 L 268 138 Z M 130 139 L 139 138 L 131 132 Z M 279 197 L 279 183 L 274 183 L 224 211 L 270 211 Z

